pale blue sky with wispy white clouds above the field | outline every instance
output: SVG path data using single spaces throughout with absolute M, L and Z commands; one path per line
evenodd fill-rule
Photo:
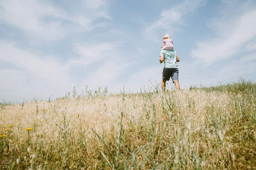
M 165 34 L 182 89 L 256 82 L 255 18 L 255 0 L 0 0 L 0 102 L 154 88 Z

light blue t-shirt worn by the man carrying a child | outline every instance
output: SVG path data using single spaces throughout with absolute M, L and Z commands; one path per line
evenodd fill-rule
M 161 50 L 160 55 L 164 56 L 164 68 L 178 68 L 175 50 Z

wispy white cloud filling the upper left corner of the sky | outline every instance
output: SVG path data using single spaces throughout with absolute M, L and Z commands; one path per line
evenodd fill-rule
M 98 18 L 110 18 L 106 0 L 96 0 L 86 5 L 89 1 L 72 1 L 68 4 L 69 9 L 73 6 L 76 8 L 73 8 L 71 13 L 47 1 L 2 0 L 0 20 L 25 31 L 31 37 L 59 40 L 66 37 L 69 32 L 92 30 L 95 27 L 93 22 Z

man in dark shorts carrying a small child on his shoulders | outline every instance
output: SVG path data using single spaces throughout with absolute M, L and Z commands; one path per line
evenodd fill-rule
M 166 88 L 166 81 L 172 77 L 172 82 L 175 84 L 176 91 L 180 90 L 179 85 L 179 70 L 177 62 L 180 61 L 179 56 L 174 50 L 161 50 L 160 63 L 164 62 L 162 89 Z

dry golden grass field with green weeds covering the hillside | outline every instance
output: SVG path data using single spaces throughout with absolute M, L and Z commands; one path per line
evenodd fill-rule
M 256 84 L 0 106 L 0 169 L 256 169 Z

